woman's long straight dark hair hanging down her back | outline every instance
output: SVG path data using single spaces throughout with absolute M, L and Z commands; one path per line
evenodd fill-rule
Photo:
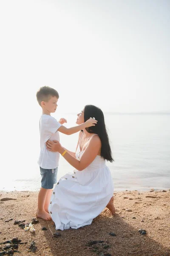
M 114 161 L 111 153 L 111 146 L 109 144 L 109 138 L 108 133 L 106 131 L 105 126 L 105 118 L 103 115 L 103 112 L 100 108 L 97 108 L 94 105 L 86 105 L 84 109 L 84 119 L 85 122 L 90 118 L 95 117 L 95 119 L 98 121 L 95 126 L 91 126 L 88 128 L 85 128 L 88 133 L 95 133 L 98 134 L 101 143 L 101 157 L 103 157 L 105 160 L 110 161 L 111 163 Z

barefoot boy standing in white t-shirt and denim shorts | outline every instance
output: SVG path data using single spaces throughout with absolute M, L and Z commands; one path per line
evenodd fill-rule
M 42 116 L 40 117 L 40 157 L 38 164 L 40 166 L 40 173 L 42 176 L 41 189 L 38 194 L 38 209 L 37 217 L 44 220 L 51 220 L 48 213 L 48 206 L 51 198 L 51 191 L 54 183 L 57 182 L 57 170 L 59 163 L 59 153 L 51 152 L 46 149 L 47 140 L 58 140 L 59 132 L 70 135 L 74 134 L 86 127 L 96 124 L 96 120 L 89 119 L 85 123 L 66 128 L 62 124 L 67 122 L 65 119 L 60 119 L 59 122 L 51 116 L 57 109 L 57 101 L 59 94 L 51 87 L 41 87 L 37 92 L 37 101 L 42 108 Z

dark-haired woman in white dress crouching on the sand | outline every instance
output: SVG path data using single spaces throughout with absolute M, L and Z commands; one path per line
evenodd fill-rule
M 104 115 L 101 109 L 86 105 L 79 113 L 77 124 L 90 118 L 95 126 L 80 131 L 76 153 L 66 150 L 58 141 L 48 141 L 47 149 L 58 151 L 74 168 L 57 183 L 51 196 L 49 213 L 56 230 L 91 224 L 105 207 L 114 214 L 113 182 L 105 160 L 113 162 Z

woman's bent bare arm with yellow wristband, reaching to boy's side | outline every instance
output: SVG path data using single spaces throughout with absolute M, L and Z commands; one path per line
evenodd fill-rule
M 48 142 L 46 143 L 48 150 L 51 151 L 50 145 Z M 59 152 L 60 154 L 63 154 L 65 151 L 65 148 L 62 147 L 62 145 L 57 142 L 54 145 L 55 151 Z M 74 158 L 71 154 L 66 152 L 64 154 L 65 160 L 67 160 L 68 163 L 70 163 L 75 169 L 78 171 L 82 171 L 85 168 L 87 168 L 95 159 L 96 155 L 98 154 L 99 150 L 101 148 L 101 141 L 98 136 L 93 136 L 91 140 L 89 141 L 84 153 L 82 154 L 82 157 L 80 160 L 77 160 Z M 53 150 L 54 151 L 54 150 Z

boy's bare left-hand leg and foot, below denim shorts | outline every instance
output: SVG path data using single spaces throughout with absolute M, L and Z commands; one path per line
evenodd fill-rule
M 42 218 L 43 220 L 51 220 L 51 216 L 48 212 L 45 212 L 44 206 L 45 206 L 45 198 L 48 193 L 49 189 L 44 189 L 41 187 L 39 194 L 38 194 L 38 209 L 36 216 L 38 218 Z

